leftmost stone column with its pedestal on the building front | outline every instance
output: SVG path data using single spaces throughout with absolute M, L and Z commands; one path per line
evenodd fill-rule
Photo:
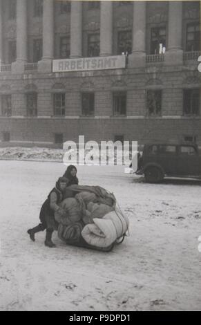
M 12 73 L 23 73 L 24 64 L 27 62 L 27 1 L 17 0 L 17 58 L 12 63 Z

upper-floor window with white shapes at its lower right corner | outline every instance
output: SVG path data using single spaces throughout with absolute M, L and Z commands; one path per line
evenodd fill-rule
M 162 54 L 166 50 L 166 28 L 151 28 L 151 54 Z

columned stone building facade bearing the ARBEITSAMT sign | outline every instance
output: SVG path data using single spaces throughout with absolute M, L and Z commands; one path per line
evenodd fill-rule
M 200 54 L 200 1 L 0 0 L 0 145 L 201 146 Z

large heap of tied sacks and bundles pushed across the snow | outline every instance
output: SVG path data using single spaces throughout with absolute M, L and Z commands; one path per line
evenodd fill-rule
M 70 196 L 70 197 L 69 197 Z M 71 185 L 60 206 L 66 216 L 55 212 L 58 236 L 71 245 L 108 251 L 124 238 L 128 219 L 115 196 L 99 186 Z

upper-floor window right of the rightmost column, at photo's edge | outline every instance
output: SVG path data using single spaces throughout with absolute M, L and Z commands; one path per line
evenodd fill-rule
M 186 51 L 200 50 L 200 24 L 189 24 L 186 29 Z

